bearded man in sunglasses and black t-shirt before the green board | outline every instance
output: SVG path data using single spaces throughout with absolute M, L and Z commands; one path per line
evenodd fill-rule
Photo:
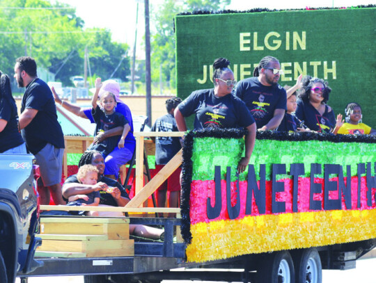
M 281 73 L 279 60 L 266 56 L 253 71 L 253 77 L 237 83 L 235 95 L 251 111 L 258 130 L 276 129 L 285 115 L 286 91 L 278 84 Z

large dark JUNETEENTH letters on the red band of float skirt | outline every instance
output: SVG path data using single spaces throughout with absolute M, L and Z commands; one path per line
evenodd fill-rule
M 285 191 L 284 181 L 277 181 L 277 175 L 285 175 L 285 164 L 273 164 L 272 165 L 272 213 L 285 213 L 286 205 L 283 201 L 277 201 L 276 195 Z M 342 196 L 344 198 L 345 209 L 352 209 L 352 182 L 351 182 L 351 166 L 347 165 L 347 177 L 343 175 L 343 166 L 338 164 L 325 164 L 324 165 L 324 197 L 323 200 L 315 200 L 315 194 L 322 193 L 322 184 L 315 183 L 315 175 L 322 174 L 322 165 L 318 163 L 311 164 L 311 176 L 310 176 L 310 193 L 309 193 L 309 210 L 321 211 L 322 201 L 324 202 L 324 210 L 341 210 Z M 227 167 L 226 172 L 226 209 L 228 211 L 228 217 L 235 219 L 240 214 L 240 185 L 239 179 L 235 182 L 234 195 L 231 193 L 230 182 L 230 167 Z M 376 163 L 375 163 L 376 171 Z M 258 213 L 265 214 L 266 207 L 266 170 L 265 164 L 260 164 L 260 185 L 258 186 L 256 180 L 255 169 L 253 165 L 249 165 L 248 179 L 246 186 L 246 207 L 245 215 L 251 215 L 252 211 L 252 197 L 255 197 L 255 204 L 258 207 Z M 357 165 L 357 207 L 361 208 L 361 175 L 366 173 L 366 186 L 363 190 L 366 190 L 366 205 L 372 207 L 372 189 L 376 187 L 376 177 L 372 176 L 371 163 L 367 163 L 367 169 L 365 163 L 359 163 Z M 298 209 L 298 178 L 304 176 L 304 164 L 295 163 L 290 165 L 290 175 L 292 176 L 292 212 L 303 212 Z M 331 176 L 338 176 L 338 181 L 331 181 Z M 346 179 L 349 180 L 346 182 Z M 347 183 L 347 184 L 345 184 Z M 220 216 L 222 210 L 221 200 L 221 166 L 215 166 L 214 169 L 214 190 L 215 190 L 215 202 L 212 206 L 211 197 L 207 197 L 207 218 L 212 220 Z M 330 192 L 337 192 L 336 199 L 330 199 Z M 234 200 L 235 197 L 235 200 Z M 376 195 L 375 195 L 376 198 Z M 235 202 L 235 205 L 232 204 Z M 243 202 L 244 203 L 244 202 Z

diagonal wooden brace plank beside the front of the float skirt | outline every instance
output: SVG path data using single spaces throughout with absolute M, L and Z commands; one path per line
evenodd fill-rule
M 139 192 L 134 195 L 132 200 L 125 205 L 126 208 L 129 207 L 139 207 L 143 202 L 145 202 L 148 197 L 157 191 L 157 188 L 182 164 L 182 149 L 173 156 L 173 158 L 164 165 L 164 168 L 160 170 L 157 175 L 152 178 L 148 184 Z M 137 184 L 137 179 L 136 179 Z

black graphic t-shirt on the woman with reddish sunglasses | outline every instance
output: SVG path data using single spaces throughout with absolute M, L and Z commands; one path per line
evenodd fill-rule
M 325 112 L 321 115 L 308 100 L 298 99 L 295 115 L 312 131 L 329 133 L 336 127 L 336 117 L 333 110 L 330 112 L 328 110 L 329 107 L 325 105 Z

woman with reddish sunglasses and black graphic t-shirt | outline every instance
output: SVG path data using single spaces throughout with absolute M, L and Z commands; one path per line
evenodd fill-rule
M 304 120 L 311 131 L 331 133 L 336 127 L 336 118 L 333 109 L 327 105 L 331 92 L 328 82 L 304 76 L 301 85 L 295 115 Z

